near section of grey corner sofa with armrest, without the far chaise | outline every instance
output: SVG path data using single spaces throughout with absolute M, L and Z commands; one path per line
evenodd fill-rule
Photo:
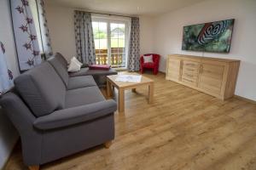
M 60 75 L 53 62 L 15 78 L 15 89 L 0 99 L 20 133 L 23 161 L 29 167 L 114 139 L 116 102 L 104 99 L 93 77 Z

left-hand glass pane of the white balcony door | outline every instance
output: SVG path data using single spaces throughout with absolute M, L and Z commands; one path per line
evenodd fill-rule
M 92 22 L 93 36 L 96 48 L 96 64 L 108 64 L 108 23 Z

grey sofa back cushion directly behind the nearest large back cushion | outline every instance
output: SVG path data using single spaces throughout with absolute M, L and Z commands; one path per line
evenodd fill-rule
M 61 77 L 61 80 L 64 82 L 64 84 L 67 87 L 68 83 L 68 73 L 67 68 L 61 64 L 61 61 L 55 57 L 51 57 L 48 59 L 49 64 L 52 65 L 55 69 L 55 71 L 58 73 L 58 75 Z

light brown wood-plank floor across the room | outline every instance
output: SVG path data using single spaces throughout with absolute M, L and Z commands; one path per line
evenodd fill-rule
M 147 88 L 125 92 L 125 113 L 115 113 L 110 149 L 97 146 L 41 167 L 47 170 L 255 170 L 256 105 L 221 101 L 153 76 L 154 104 Z M 6 169 L 26 169 L 20 147 Z

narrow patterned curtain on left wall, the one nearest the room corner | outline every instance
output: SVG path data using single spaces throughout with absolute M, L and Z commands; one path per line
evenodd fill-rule
M 38 18 L 39 18 L 39 25 L 41 30 L 43 51 L 46 58 L 49 58 L 53 53 L 50 45 L 49 29 L 47 26 L 47 20 L 45 16 L 44 1 L 37 0 L 37 4 L 38 4 Z

